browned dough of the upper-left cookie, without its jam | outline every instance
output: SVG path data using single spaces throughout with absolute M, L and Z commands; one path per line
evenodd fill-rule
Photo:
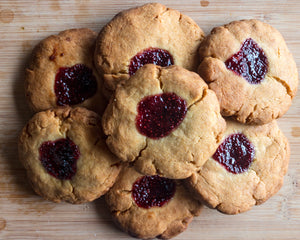
M 97 34 L 88 28 L 69 29 L 47 37 L 34 48 L 26 68 L 25 94 L 35 112 L 61 106 L 57 104 L 54 87 L 60 68 L 84 64 L 92 71 L 92 76 L 96 80 L 96 86 L 91 86 L 90 89 L 95 93 L 71 106 L 86 107 L 102 114 L 107 101 L 102 94 L 103 80 L 93 63 L 96 36 Z M 87 80 L 89 79 L 83 79 L 83 88 L 86 87 Z M 78 87 L 79 84 L 74 87 L 75 91 L 78 91 Z

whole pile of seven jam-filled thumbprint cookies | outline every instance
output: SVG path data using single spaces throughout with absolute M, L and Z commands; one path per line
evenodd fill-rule
M 258 20 L 214 28 L 159 3 L 99 33 L 71 29 L 34 49 L 25 92 L 36 112 L 19 138 L 33 189 L 83 203 L 106 194 L 117 224 L 171 238 L 202 204 L 237 214 L 282 186 L 289 144 L 276 120 L 296 64 Z

